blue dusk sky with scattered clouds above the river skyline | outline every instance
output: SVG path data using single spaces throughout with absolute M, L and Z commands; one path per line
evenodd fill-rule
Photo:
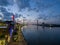
M 15 15 L 15 19 L 60 24 L 60 0 L 0 0 L 0 14 L 4 20 L 11 20 Z

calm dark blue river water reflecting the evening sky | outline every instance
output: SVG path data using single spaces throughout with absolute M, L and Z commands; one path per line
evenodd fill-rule
M 60 45 L 60 27 L 28 25 L 22 32 L 28 45 Z

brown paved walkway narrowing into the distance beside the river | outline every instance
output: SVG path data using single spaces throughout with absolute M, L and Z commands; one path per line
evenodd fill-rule
M 23 37 L 23 34 L 22 34 L 22 31 L 21 31 L 21 26 L 18 26 L 18 39 L 16 42 L 13 42 L 12 41 L 12 38 L 11 38 L 11 41 L 8 45 L 27 45 L 27 42 L 24 40 L 24 37 Z

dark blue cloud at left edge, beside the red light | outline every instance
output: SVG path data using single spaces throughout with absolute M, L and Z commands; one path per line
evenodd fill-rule
M 5 7 L 0 7 L 0 13 L 3 14 L 3 20 L 12 20 L 13 13 L 8 12 Z

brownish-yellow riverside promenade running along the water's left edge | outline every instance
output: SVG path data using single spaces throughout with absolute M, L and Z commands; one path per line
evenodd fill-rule
M 8 45 L 27 45 L 27 42 L 26 40 L 24 39 L 24 36 L 22 34 L 22 31 L 21 31 L 21 27 L 23 25 L 20 25 L 20 24 L 16 24 L 15 25 L 16 28 L 17 28 L 17 40 L 16 41 L 13 41 L 12 38 L 10 39 L 10 43 Z M 13 36 L 13 35 L 12 35 Z

